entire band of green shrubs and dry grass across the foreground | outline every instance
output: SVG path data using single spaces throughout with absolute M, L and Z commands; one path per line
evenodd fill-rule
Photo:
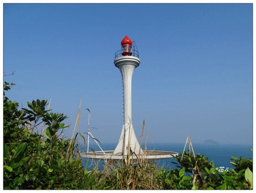
M 62 113 L 47 109 L 47 100 L 28 102 L 27 109 L 10 101 L 3 86 L 4 189 L 116 189 L 116 190 L 244 190 L 253 188 L 252 159 L 233 157 L 235 169 L 219 172 L 213 162 L 185 151 L 176 168 L 157 168 L 148 161 L 106 164 L 87 170 L 75 139 L 60 138 L 68 126 Z M 81 138 L 84 137 L 80 134 Z M 84 141 L 85 142 L 85 141 Z

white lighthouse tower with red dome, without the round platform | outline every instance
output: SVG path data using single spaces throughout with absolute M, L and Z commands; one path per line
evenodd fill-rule
M 134 133 L 131 116 L 131 83 L 134 70 L 140 65 L 139 54 L 132 50 L 132 40 L 126 35 L 121 41 L 122 49 L 116 52 L 114 64 L 119 68 L 123 82 L 124 124 L 114 154 L 127 155 L 143 152 Z M 133 54 L 134 52 L 134 54 Z

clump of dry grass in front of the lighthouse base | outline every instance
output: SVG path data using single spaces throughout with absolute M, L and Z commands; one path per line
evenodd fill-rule
M 114 161 L 108 161 L 108 164 L 106 164 L 103 170 L 101 171 L 103 175 L 100 179 L 101 181 L 105 181 L 106 183 L 111 184 L 111 186 L 116 190 L 161 189 L 160 185 L 157 183 L 157 179 L 155 178 L 155 175 L 159 173 L 156 165 L 148 161 L 145 153 L 141 152 L 144 130 L 145 121 L 143 121 L 142 134 L 140 136 L 139 154 L 134 155 L 134 153 L 131 153 L 130 155 L 128 154 L 127 156 L 123 155 L 122 161 L 117 162 L 117 164 Z M 131 145 L 131 132 L 127 131 L 127 133 L 129 135 L 129 150 Z M 144 150 L 146 150 L 147 138 L 148 133 L 145 139 Z

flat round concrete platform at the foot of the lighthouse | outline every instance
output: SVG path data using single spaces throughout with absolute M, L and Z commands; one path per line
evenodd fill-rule
M 114 151 L 96 151 L 96 152 L 88 152 L 88 153 L 80 153 L 82 158 L 92 158 L 92 159 L 115 159 L 115 160 L 122 160 L 124 157 L 126 158 L 127 155 L 123 156 L 122 154 L 113 154 Z M 150 159 L 150 160 L 159 160 L 159 159 L 166 159 L 166 158 L 173 158 L 177 156 L 178 153 L 170 152 L 170 151 L 143 151 L 143 153 L 139 155 L 135 155 L 132 153 L 130 155 L 131 159 Z

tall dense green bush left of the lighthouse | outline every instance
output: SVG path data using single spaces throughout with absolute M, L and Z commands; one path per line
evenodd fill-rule
M 12 85 L 5 83 L 4 91 Z M 46 105 L 47 100 L 36 100 L 28 102 L 28 109 L 18 110 L 18 104 L 4 93 L 4 189 L 90 189 L 95 181 L 88 182 L 81 158 L 74 156 L 77 144 L 67 152 L 70 139 L 57 135 L 58 130 L 68 127 L 62 123 L 67 117 L 49 113 Z M 35 132 L 42 123 L 47 126 L 44 135 Z

